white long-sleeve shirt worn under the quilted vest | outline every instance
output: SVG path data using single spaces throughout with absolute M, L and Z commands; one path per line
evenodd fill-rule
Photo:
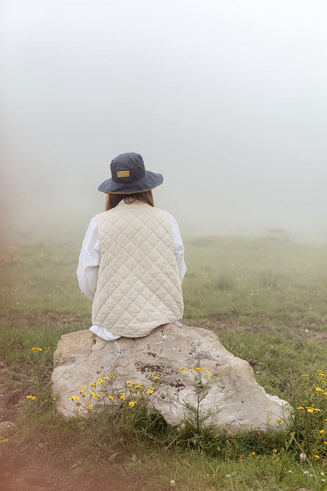
M 123 203 L 124 200 L 121 201 Z M 178 225 L 175 218 L 169 215 L 172 224 L 173 243 L 175 247 L 176 262 L 178 267 L 180 282 L 183 281 L 186 273 L 186 266 L 184 263 L 184 246 L 183 241 L 179 233 Z M 98 270 L 100 264 L 100 241 L 98 233 L 98 225 L 96 218 L 92 218 L 86 235 L 83 240 L 82 249 L 79 254 L 77 278 L 78 285 L 81 291 L 90 299 L 94 300 L 94 295 L 97 289 Z M 90 331 L 97 336 L 105 339 L 106 341 L 112 341 L 118 339 L 118 334 L 105 329 L 102 326 L 92 326 Z

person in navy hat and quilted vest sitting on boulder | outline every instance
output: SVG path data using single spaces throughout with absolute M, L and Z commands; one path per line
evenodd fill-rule
M 161 174 L 137 153 L 111 164 L 105 212 L 92 218 L 77 268 L 82 292 L 93 300 L 90 330 L 111 341 L 142 337 L 183 317 L 184 247 L 174 217 L 154 207 Z

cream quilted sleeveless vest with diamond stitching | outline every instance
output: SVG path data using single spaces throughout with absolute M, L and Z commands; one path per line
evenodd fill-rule
M 100 266 L 92 322 L 126 337 L 146 336 L 183 317 L 168 212 L 141 202 L 96 215 Z

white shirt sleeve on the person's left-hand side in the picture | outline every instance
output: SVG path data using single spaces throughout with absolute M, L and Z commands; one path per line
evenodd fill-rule
M 79 254 L 77 279 L 79 288 L 90 299 L 94 300 L 97 289 L 100 264 L 100 241 L 96 218 L 92 218 L 83 240 Z

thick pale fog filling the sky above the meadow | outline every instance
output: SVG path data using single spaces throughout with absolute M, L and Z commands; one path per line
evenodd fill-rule
M 183 237 L 327 239 L 325 0 L 2 0 L 5 230 L 77 238 L 113 157 Z

